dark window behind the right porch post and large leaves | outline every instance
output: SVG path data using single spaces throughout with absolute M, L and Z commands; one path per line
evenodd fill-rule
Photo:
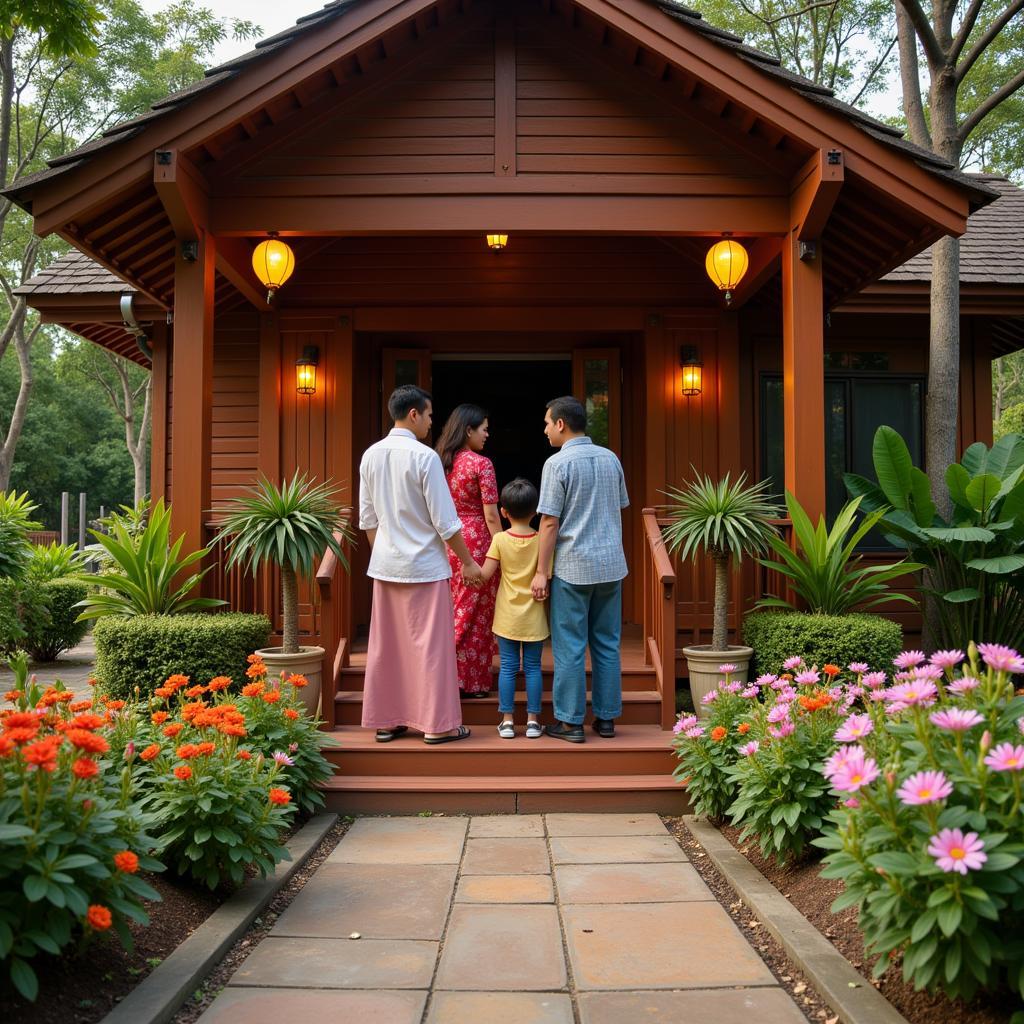
M 874 478 L 871 444 L 883 424 L 897 430 L 910 450 L 914 465 L 924 456 L 924 379 L 894 374 L 825 372 L 825 515 L 829 522 L 847 500 L 844 473 Z M 782 378 L 761 378 L 761 477 L 784 493 L 782 441 Z M 870 534 L 864 547 L 888 547 Z

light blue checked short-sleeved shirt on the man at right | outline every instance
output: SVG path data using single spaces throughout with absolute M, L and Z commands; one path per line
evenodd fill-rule
M 583 587 L 626 577 L 622 510 L 629 504 L 618 459 L 589 437 L 567 440 L 544 464 L 537 511 L 558 519 L 559 580 Z

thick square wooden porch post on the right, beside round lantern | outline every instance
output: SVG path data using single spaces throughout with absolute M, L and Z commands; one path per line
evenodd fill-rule
M 824 300 L 821 243 L 791 232 L 782 247 L 785 488 L 816 523 L 825 511 Z M 803 256 L 801 258 L 801 251 Z

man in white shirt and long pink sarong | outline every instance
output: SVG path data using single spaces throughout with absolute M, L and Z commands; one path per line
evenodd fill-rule
M 362 725 L 386 743 L 416 729 L 427 743 L 463 739 L 455 620 L 444 545 L 462 577 L 481 582 L 440 458 L 423 443 L 433 407 L 422 388 L 395 388 L 387 403 L 394 429 L 359 463 L 359 528 L 370 541 L 374 581 Z

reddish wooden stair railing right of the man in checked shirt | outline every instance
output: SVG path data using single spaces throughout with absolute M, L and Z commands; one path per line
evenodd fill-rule
M 644 663 L 653 666 L 662 694 L 662 728 L 676 718 L 676 570 L 654 509 L 643 510 Z

